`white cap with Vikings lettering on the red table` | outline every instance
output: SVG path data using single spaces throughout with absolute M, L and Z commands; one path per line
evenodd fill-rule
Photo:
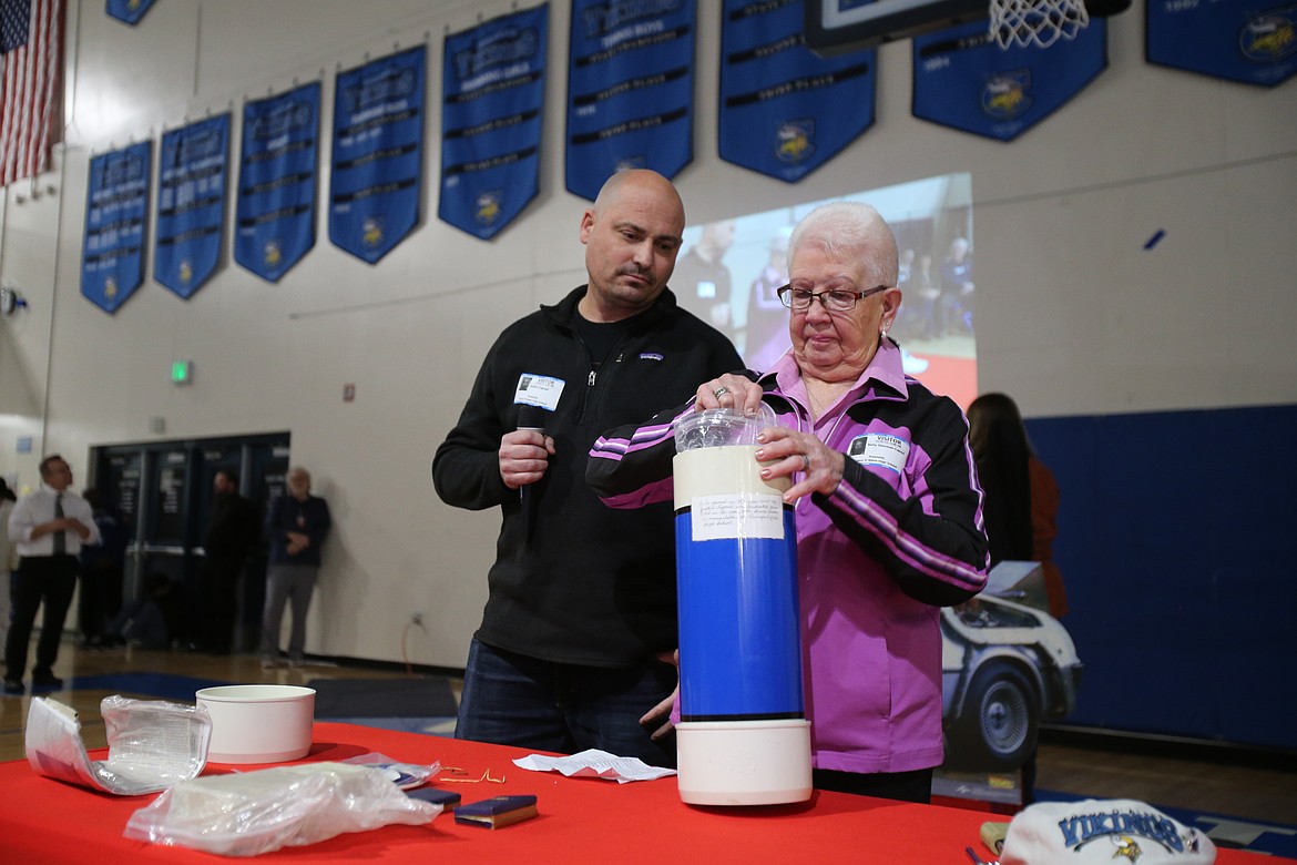
M 1210 865 L 1215 844 L 1134 799 L 1038 803 L 1009 824 L 1000 865 Z

